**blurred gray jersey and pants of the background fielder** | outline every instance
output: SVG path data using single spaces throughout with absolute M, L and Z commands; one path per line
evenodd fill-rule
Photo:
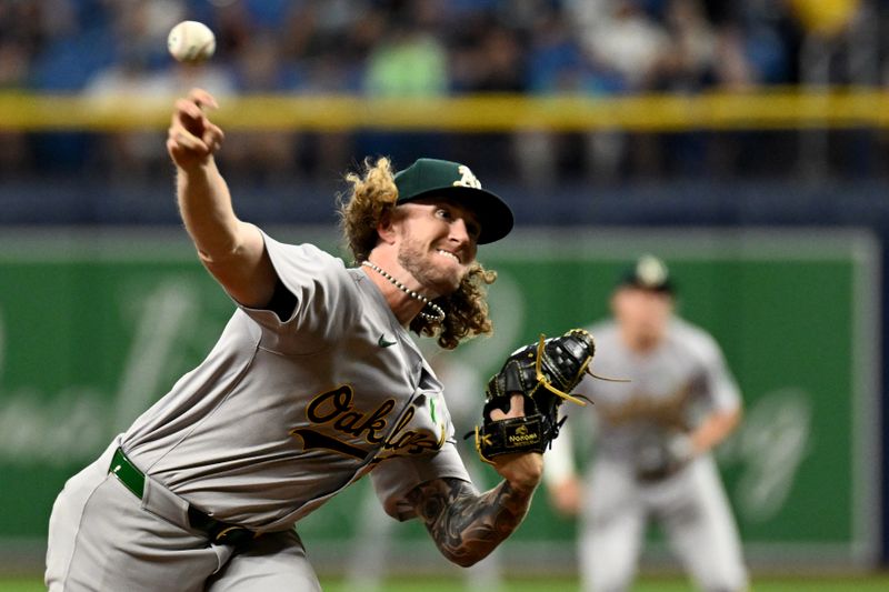
M 738 387 L 716 341 L 680 319 L 652 352 L 627 348 L 612 321 L 589 329 L 596 339 L 595 372 L 577 392 L 595 402 L 596 456 L 585 488 L 580 569 L 588 590 L 628 590 L 646 524 L 657 519 L 675 552 L 702 590 L 735 591 L 747 575 L 735 521 L 709 454 L 656 479 L 640 479 L 648 455 L 687 431 L 708 411 L 739 407 Z M 586 411 L 586 410 L 583 410 Z M 590 421 L 573 413 L 578 429 Z

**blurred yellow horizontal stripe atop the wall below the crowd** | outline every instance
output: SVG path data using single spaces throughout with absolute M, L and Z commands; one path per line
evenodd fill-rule
M 214 120 L 229 130 L 444 132 L 519 130 L 629 131 L 885 128 L 889 92 L 781 89 L 750 93 L 629 97 L 522 94 L 441 99 L 357 96 L 218 97 Z M 0 130 L 166 129 L 174 97 L 0 93 Z

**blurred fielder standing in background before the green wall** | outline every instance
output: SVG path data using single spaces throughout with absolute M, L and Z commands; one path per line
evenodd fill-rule
M 589 328 L 597 372 L 629 383 L 580 385 L 596 418 L 595 458 L 581 485 L 571 438 L 553 442 L 547 466 L 552 504 L 581 516 L 579 569 L 585 592 L 629 590 L 649 520 L 707 592 L 747 588 L 740 540 L 711 449 L 741 418 L 741 398 L 713 338 L 675 314 L 663 262 L 640 258 L 611 298 L 613 319 Z

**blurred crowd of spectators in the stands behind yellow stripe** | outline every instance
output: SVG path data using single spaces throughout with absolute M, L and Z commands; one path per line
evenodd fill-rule
M 888 6 L 887 0 L 0 0 L 0 89 L 160 96 L 193 84 L 219 94 L 440 97 L 879 86 L 889 73 L 881 66 L 885 36 L 879 34 Z M 183 19 L 203 21 L 217 33 L 213 60 L 198 70 L 176 64 L 166 51 L 170 28 Z M 124 136 L 91 142 L 98 144 L 94 163 L 151 173 L 164 155 L 162 143 Z M 542 182 L 566 171 L 599 180 L 681 173 L 700 164 L 702 151 L 706 165 L 716 170 L 751 165 L 741 154 L 745 138 L 710 150 L 690 133 L 680 134 L 679 143 L 662 134 L 618 132 L 447 134 L 446 144 L 442 136 L 427 133 L 238 136 L 226 159 L 266 177 L 330 174 L 364 153 L 389 153 L 398 163 L 430 141 L 447 144 L 448 157 L 480 152 L 487 155 L 482 169 Z M 787 150 L 798 141 L 786 139 Z M 47 161 L 27 139 L 7 134 L 0 143 L 7 154 L 0 167 L 8 170 Z M 50 157 L 66 161 L 64 153 Z

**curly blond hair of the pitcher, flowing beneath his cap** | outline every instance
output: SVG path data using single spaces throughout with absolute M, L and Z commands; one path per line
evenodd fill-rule
M 388 158 L 376 162 L 366 159 L 360 172 L 349 172 L 346 181 L 351 185 L 348 194 L 339 195 L 340 230 L 352 264 L 361 264 L 379 241 L 377 227 L 391 213 L 398 200 L 392 164 Z M 478 261 L 470 265 L 460 287 L 451 294 L 433 300 L 447 315 L 443 321 L 413 318 L 410 330 L 419 335 L 436 338 L 446 350 L 455 349 L 460 341 L 493 331 L 488 317 L 487 287 L 497 280 L 497 272 L 486 270 Z

